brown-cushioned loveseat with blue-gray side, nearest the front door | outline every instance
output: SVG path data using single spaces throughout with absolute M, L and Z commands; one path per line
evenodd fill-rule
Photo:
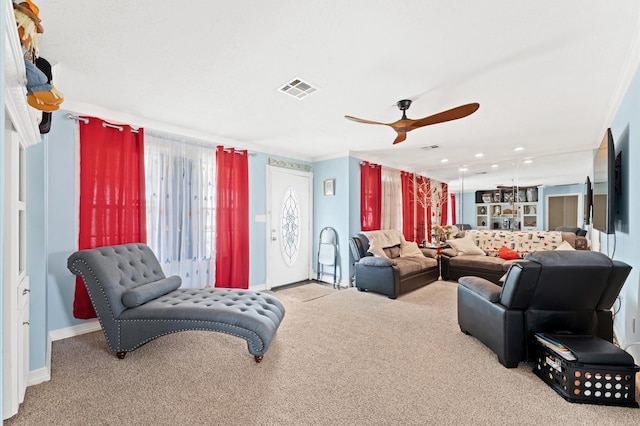
M 439 278 L 437 250 L 419 248 L 398 230 L 361 232 L 349 243 L 354 257 L 354 285 L 360 291 L 395 299 Z

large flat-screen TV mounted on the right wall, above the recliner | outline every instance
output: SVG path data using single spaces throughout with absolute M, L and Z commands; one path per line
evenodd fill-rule
M 615 149 L 611 129 L 607 129 L 593 158 L 593 228 L 606 234 L 615 232 Z

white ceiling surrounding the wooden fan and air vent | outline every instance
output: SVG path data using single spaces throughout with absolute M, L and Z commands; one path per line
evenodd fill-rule
M 637 0 L 36 3 L 64 109 L 308 161 L 353 155 L 452 190 L 463 165 L 465 190 L 584 182 L 640 56 Z M 278 91 L 294 78 L 319 90 Z M 344 118 L 393 122 L 404 98 L 410 118 L 480 109 L 395 146 L 391 128 Z

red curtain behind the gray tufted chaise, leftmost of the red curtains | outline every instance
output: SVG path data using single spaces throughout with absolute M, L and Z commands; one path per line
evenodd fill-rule
M 87 117 L 83 117 L 85 119 Z M 80 233 L 78 249 L 146 243 L 144 130 L 117 128 L 88 117 L 80 124 Z M 80 277 L 73 316 L 95 318 Z

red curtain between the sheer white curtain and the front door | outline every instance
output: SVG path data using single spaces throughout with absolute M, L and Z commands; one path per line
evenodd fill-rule
M 216 287 L 249 288 L 247 151 L 216 148 Z

